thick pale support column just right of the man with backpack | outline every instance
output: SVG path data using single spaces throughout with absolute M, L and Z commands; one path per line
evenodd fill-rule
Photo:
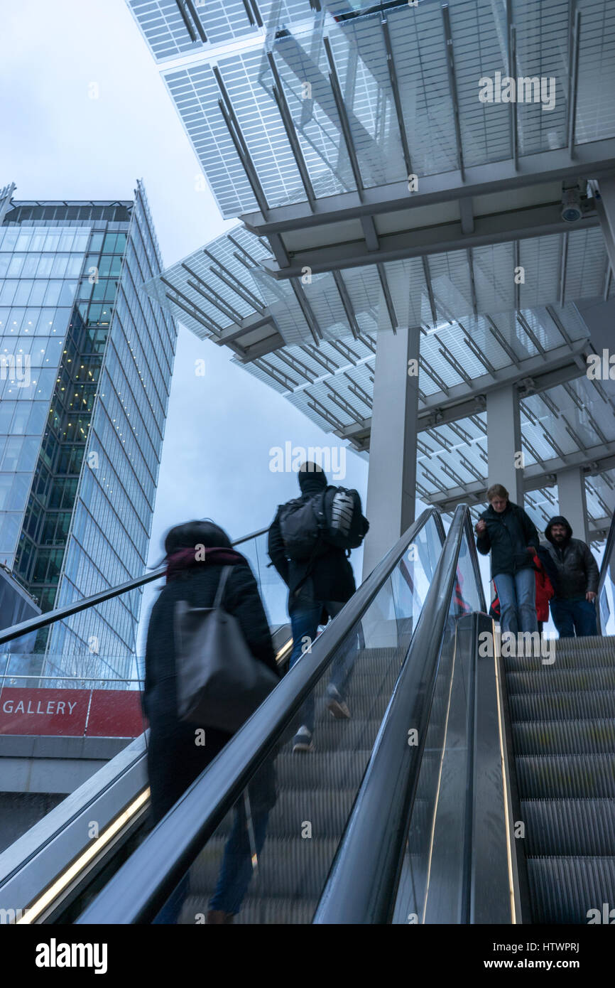
M 419 327 L 378 333 L 363 578 L 415 520 L 420 339 Z

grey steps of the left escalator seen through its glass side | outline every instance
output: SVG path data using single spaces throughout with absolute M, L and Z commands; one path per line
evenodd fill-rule
M 374 738 L 391 698 L 399 660 L 393 648 L 357 652 L 351 679 L 351 720 L 336 720 L 326 706 L 325 681 L 316 690 L 316 750 L 275 759 L 277 800 L 269 816 L 260 874 L 235 922 L 310 923 L 344 833 Z M 297 721 L 298 723 L 298 721 Z M 288 733 L 288 732 L 287 732 Z M 227 814 L 191 868 L 191 894 L 180 923 L 194 923 L 214 891 L 232 826 Z

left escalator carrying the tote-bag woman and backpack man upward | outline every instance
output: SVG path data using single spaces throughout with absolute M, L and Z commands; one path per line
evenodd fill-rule
M 265 537 L 265 533 L 257 533 L 240 541 L 268 608 L 271 589 L 278 602 L 283 598 L 284 604 L 286 593 L 283 588 L 280 597 L 280 587 L 270 587 L 271 582 L 278 578 L 266 566 Z M 246 543 L 250 538 L 260 540 L 258 552 L 248 551 L 250 546 Z M 407 654 L 413 626 L 420 613 L 443 538 L 437 513 L 424 512 L 359 588 L 344 612 L 330 622 L 314 643 L 313 654 L 306 655 L 292 673 L 283 678 L 267 701 L 269 707 L 272 702 L 275 715 L 271 717 L 263 709 L 267 702 L 263 704 L 227 745 L 223 752 L 224 759 L 216 759 L 209 767 L 219 767 L 222 761 L 222 788 L 226 792 L 222 799 L 214 801 L 211 816 L 205 820 L 212 831 L 211 841 L 202 854 L 192 856 L 195 860 L 192 861 L 190 895 L 186 898 L 179 922 L 194 922 L 193 914 L 205 907 L 215 884 L 222 848 L 231 826 L 232 806 L 241 798 L 243 789 L 242 786 L 237 789 L 236 785 L 232 791 L 229 788 L 233 765 L 238 764 L 240 778 L 248 782 L 248 777 L 258 772 L 258 763 L 263 762 L 267 754 L 266 747 L 275 748 L 277 753 L 277 798 L 270 814 L 266 849 L 260 856 L 261 873 L 258 880 L 252 882 L 242 910 L 242 920 L 309 922 L 369 760 L 382 714 Z M 409 562 L 405 554 L 411 542 L 416 545 L 421 558 Z M 32 631 L 35 625 L 44 626 L 88 607 L 100 608 L 112 596 L 129 592 L 139 584 L 159 578 L 162 573 L 162 570 L 155 571 L 88 601 L 2 632 L 0 643 L 14 638 L 16 634 Z M 270 606 L 268 610 L 270 613 Z M 366 610 L 371 616 L 365 624 L 367 641 L 363 627 Z M 383 646 L 378 644 L 382 634 Z M 326 647 L 327 640 L 333 650 Z M 289 644 L 288 626 L 281 625 L 276 629 L 274 646 L 282 665 L 289 657 Z M 350 721 L 335 721 L 324 709 L 322 694 L 327 681 L 323 673 L 336 657 L 341 659 L 345 654 L 354 666 L 351 692 L 353 716 Z M 310 664 L 313 666 L 314 662 L 318 672 L 314 675 L 312 671 L 310 676 L 308 667 Z M 44 679 L 40 685 L 44 685 Z M 318 703 L 317 751 L 302 758 L 291 754 L 289 739 L 296 729 L 302 702 L 312 689 Z M 255 727 L 258 728 L 260 722 L 266 725 L 266 745 L 261 751 L 256 749 L 255 758 L 247 759 L 246 751 L 255 747 L 250 739 L 254 737 Z M 115 872 L 122 864 L 132 863 L 142 848 L 147 850 L 152 840 L 155 842 L 160 827 L 148 833 L 146 746 L 147 733 L 128 744 L 104 769 L 0 855 L 0 909 L 5 908 L 9 913 L 15 911 L 15 921 L 18 923 L 74 922 L 96 894 L 106 889 L 110 879 L 113 881 Z M 207 771 L 197 782 L 206 786 L 215 781 L 215 777 L 215 772 Z M 175 807 L 178 813 L 184 801 L 180 800 Z M 200 798 L 197 801 L 197 818 L 201 822 Z M 171 811 L 168 817 L 173 816 L 174 811 Z M 100 835 L 95 840 L 91 840 L 88 833 L 92 820 L 97 821 L 100 827 Z M 314 825 L 314 834 L 307 841 L 302 836 L 306 833 L 306 824 Z M 178 850 L 182 842 L 174 839 L 173 844 L 174 850 Z M 310 852 L 306 854 L 308 847 Z M 168 858 L 167 849 L 163 860 L 167 861 Z M 149 873 L 152 873 L 151 868 Z M 160 890 L 158 898 L 164 901 Z M 150 919 L 154 916 L 155 911 Z

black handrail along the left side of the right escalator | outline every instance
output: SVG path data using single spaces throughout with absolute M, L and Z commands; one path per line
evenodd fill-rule
M 463 535 L 476 554 L 466 505 L 448 530 L 393 697 L 314 916 L 315 924 L 391 921 L 419 782 L 431 701 Z M 481 607 L 485 609 L 478 561 Z M 419 744 L 406 743 L 409 728 Z

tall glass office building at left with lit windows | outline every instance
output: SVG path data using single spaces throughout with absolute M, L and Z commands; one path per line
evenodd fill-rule
M 161 271 L 131 202 L 0 193 L 0 562 L 48 611 L 140 575 L 177 328 L 139 289 Z M 53 625 L 34 665 L 132 669 L 140 591 Z M 38 668 L 31 670 L 38 673 Z

